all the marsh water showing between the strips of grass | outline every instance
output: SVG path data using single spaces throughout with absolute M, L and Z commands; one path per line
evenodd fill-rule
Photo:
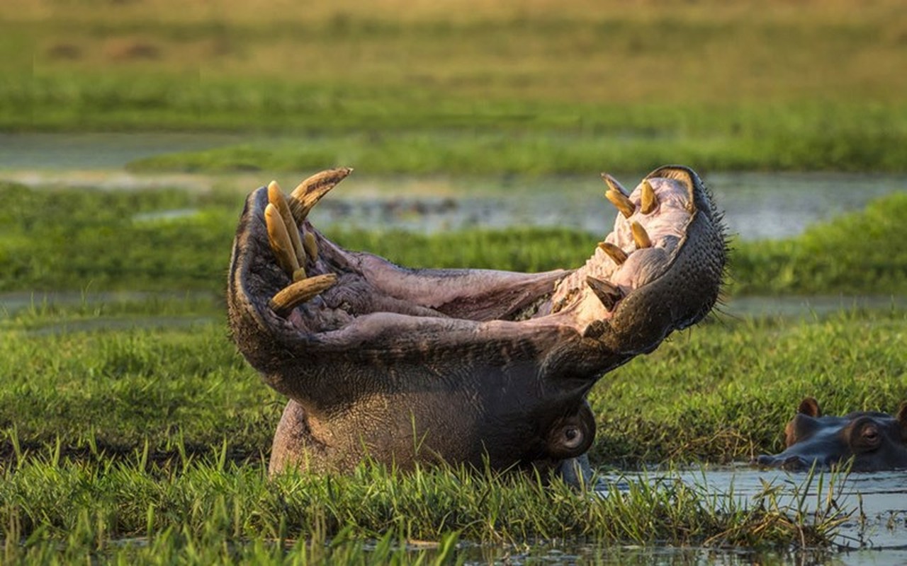
M 185 187 L 210 190 L 233 187 L 242 195 L 249 189 L 278 177 L 285 186 L 297 176 L 267 171 L 236 175 L 133 174 L 125 169 L 133 159 L 174 150 L 205 149 L 235 143 L 234 136 L 157 134 L 0 134 L 0 179 L 29 186 L 72 186 L 103 189 Z M 351 164 L 355 165 L 355 164 Z M 602 164 L 607 168 L 607 164 Z M 644 173 L 644 172 L 643 172 Z M 642 174 L 619 175 L 627 186 Z M 902 175 L 825 175 L 715 173 L 704 175 L 726 212 L 731 232 L 744 239 L 783 238 L 803 232 L 807 226 L 866 206 L 873 198 L 907 190 Z M 161 219 L 191 216 L 191 209 L 162 211 Z M 317 224 L 344 223 L 363 228 L 405 229 L 433 232 L 468 227 L 512 225 L 568 225 L 590 233 L 607 232 L 614 212 L 602 197 L 598 171 L 574 177 L 488 178 L 390 178 L 369 177 L 357 172 L 342 190 L 327 198 L 313 213 Z M 154 218 L 141 218 L 140 220 Z M 38 302 L 135 301 L 141 297 L 92 293 L 56 293 L 35 298 L 29 293 L 0 296 L 0 320 Z M 853 306 L 904 306 L 903 298 L 747 298 L 732 302 L 727 311 L 750 316 L 777 314 L 804 316 L 811 312 Z M 182 325 L 195 318 L 150 317 L 148 320 L 99 319 L 76 325 L 37 331 L 83 331 L 119 328 L 121 325 Z M 708 494 L 751 502 L 767 485 L 780 485 L 782 494 L 800 493 L 805 475 L 760 471 L 748 466 L 672 473 L 671 481 L 700 486 Z M 606 476 L 618 484 L 652 481 L 657 472 L 645 475 Z M 520 548 L 463 545 L 459 552 L 467 562 L 486 563 L 661 563 L 661 564 L 751 564 L 751 563 L 907 563 L 907 473 L 853 474 L 838 480 L 834 503 L 847 514 L 837 530 L 835 552 L 760 553 L 748 549 L 596 548 L 570 542 L 544 542 Z M 828 484 L 818 490 L 816 482 L 806 490 L 807 508 L 827 504 Z M 791 495 L 788 495 L 791 496 Z

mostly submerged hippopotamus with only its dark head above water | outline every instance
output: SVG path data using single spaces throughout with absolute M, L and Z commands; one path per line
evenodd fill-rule
M 894 417 L 876 411 L 823 417 L 819 403 L 807 397 L 785 427 L 785 443 L 784 452 L 758 456 L 756 464 L 797 471 L 847 465 L 853 458 L 855 472 L 907 468 L 907 403 Z

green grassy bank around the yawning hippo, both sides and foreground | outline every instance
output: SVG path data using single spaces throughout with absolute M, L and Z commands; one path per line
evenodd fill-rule
M 366 466 L 269 484 L 262 456 L 283 400 L 241 360 L 222 318 L 174 325 L 140 302 L 131 328 L 104 312 L 84 328 L 83 308 L 22 312 L 0 329 L 7 559 L 380 560 L 412 540 L 433 541 L 429 557 L 450 556 L 444 545 L 457 535 L 783 549 L 823 546 L 847 512 L 803 513 L 780 504 L 775 487 L 743 506 L 670 475 L 605 499 L 453 469 Z M 590 456 L 605 468 L 748 460 L 781 445 L 805 394 L 829 412 L 893 410 L 907 397 L 905 331 L 902 310 L 701 325 L 593 389 Z M 364 551 L 364 540 L 383 536 L 387 548 Z M 336 540 L 319 551 L 319 537 Z

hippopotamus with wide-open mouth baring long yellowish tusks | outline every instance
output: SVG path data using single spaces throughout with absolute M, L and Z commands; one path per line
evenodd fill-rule
M 697 174 L 666 166 L 618 208 L 585 264 L 544 273 L 410 269 L 329 241 L 308 215 L 352 169 L 249 194 L 233 244 L 232 339 L 288 398 L 269 474 L 411 470 L 589 474 L 587 393 L 606 372 L 702 320 L 727 237 Z M 603 213 L 604 214 L 604 213 Z

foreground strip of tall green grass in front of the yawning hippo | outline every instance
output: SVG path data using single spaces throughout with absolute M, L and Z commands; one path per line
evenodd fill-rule
M 388 555 L 405 557 L 407 543 L 423 541 L 442 563 L 457 553 L 461 561 L 468 556 L 468 547 L 458 552 L 454 546 L 460 537 L 498 545 L 571 540 L 765 549 L 797 541 L 814 548 L 827 543 L 845 516 L 828 505 L 806 516 L 796 504 L 780 503 L 777 486 L 745 505 L 669 477 L 634 481 L 624 491 L 613 486 L 607 496 L 594 497 L 560 482 L 451 468 L 398 475 L 362 465 L 350 475 L 283 475 L 269 482 L 260 467 L 233 465 L 222 456 L 159 466 L 141 452 L 73 463 L 53 451 L 24 457 L 3 475 L 0 532 L 7 542 L 25 539 L 21 546 L 5 545 L 5 561 L 41 554 L 323 561 L 334 552 L 356 552 L 359 560 L 380 563 Z M 841 480 L 832 478 L 829 494 L 840 491 Z M 364 538 L 378 541 L 377 548 L 363 552 Z

